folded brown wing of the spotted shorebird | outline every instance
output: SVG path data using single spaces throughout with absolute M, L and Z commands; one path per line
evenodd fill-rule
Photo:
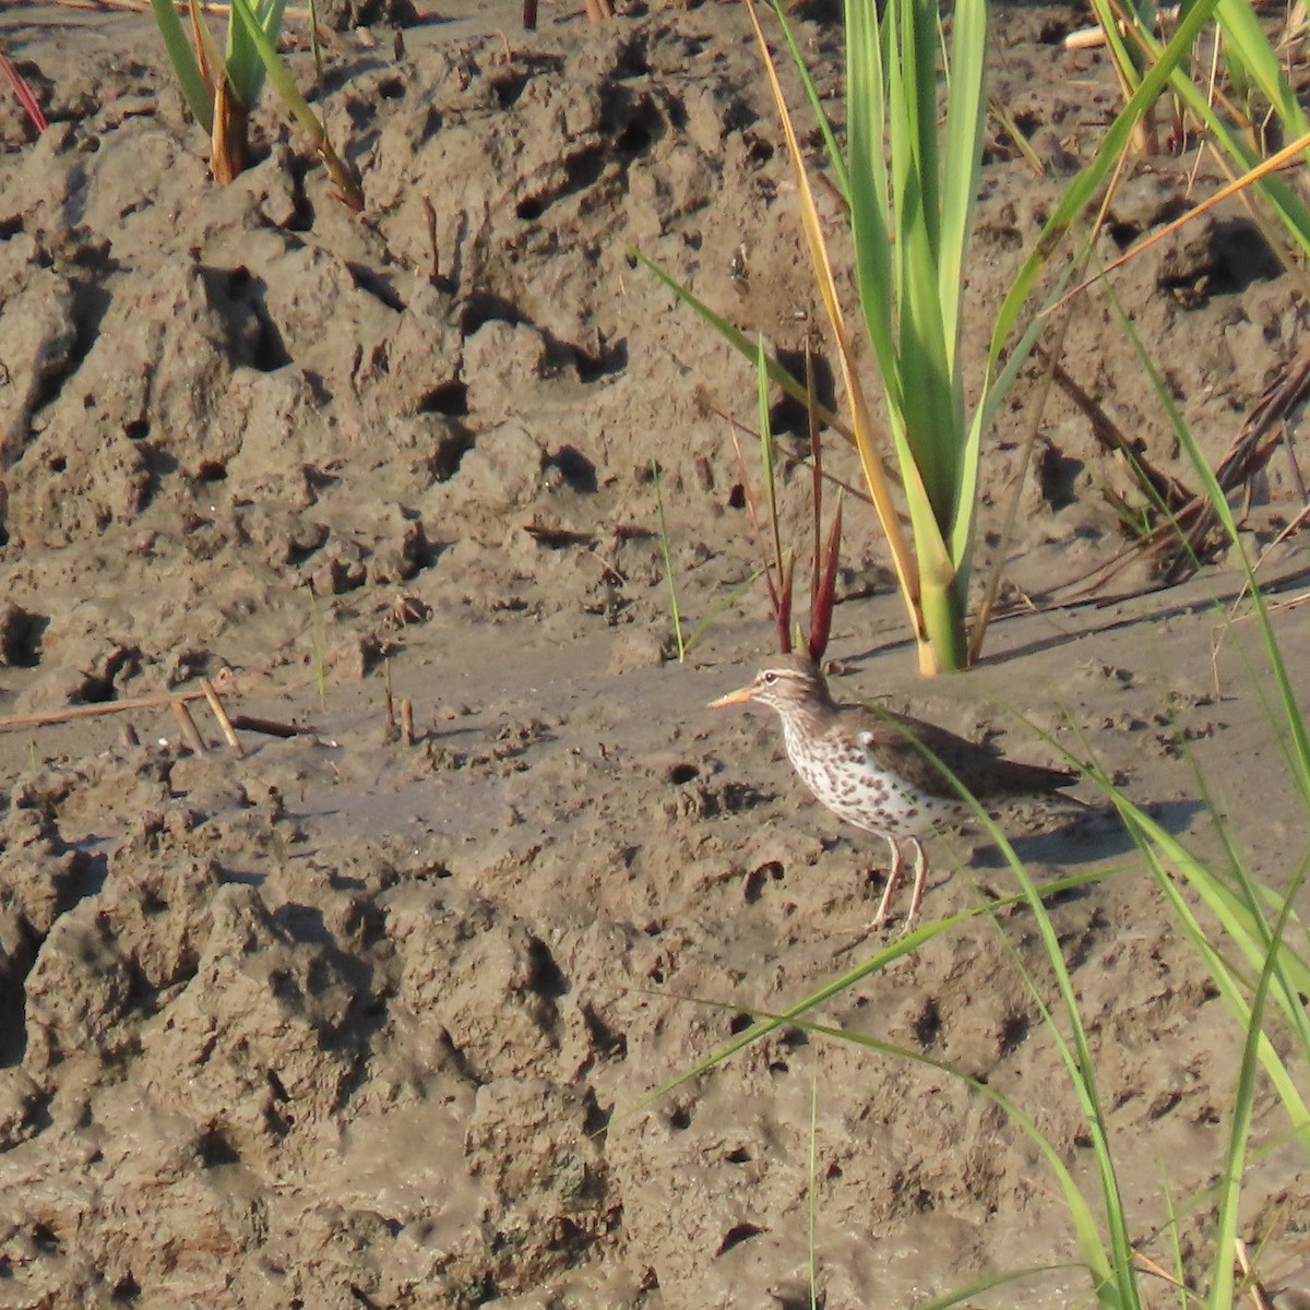
M 879 706 L 867 707 L 865 744 L 887 768 L 913 786 L 952 800 L 959 793 L 925 755 L 934 755 L 979 799 L 1041 795 L 1078 781 L 1077 773 L 1006 760 L 990 747 L 958 736 L 948 728 Z

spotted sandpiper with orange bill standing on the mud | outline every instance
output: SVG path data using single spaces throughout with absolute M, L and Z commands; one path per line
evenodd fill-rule
M 808 656 L 770 663 L 748 686 L 710 701 L 707 709 L 748 702 L 778 711 L 791 766 L 815 796 L 838 819 L 887 842 L 891 870 L 874 916 L 875 929 L 887 922 L 904 866 L 904 846 L 914 859 L 914 887 L 904 924 L 908 933 L 927 878 L 920 837 L 941 824 L 973 816 L 943 766 L 984 806 L 1049 796 L 1079 778 L 1069 769 L 1007 760 L 908 714 L 840 705 L 819 664 Z

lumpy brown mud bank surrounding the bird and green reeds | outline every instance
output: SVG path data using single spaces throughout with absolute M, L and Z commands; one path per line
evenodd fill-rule
M 798 17 L 831 93 L 834 33 Z M 358 219 L 271 103 L 261 161 L 212 186 L 148 21 L 0 14 L 52 119 L 34 141 L 0 98 L 0 713 L 231 668 L 233 709 L 307 728 L 242 734 L 240 758 L 199 710 L 203 755 L 164 710 L 131 734 L 128 717 L 0 734 L 0 1305 L 802 1306 L 811 1136 L 829 1310 L 1027 1265 L 1053 1268 L 1026 1305 L 1090 1303 L 1045 1165 L 948 1074 L 787 1031 L 643 1108 L 741 1010 L 886 941 L 880 844 L 800 794 L 772 720 L 702 709 L 770 647 L 758 592 L 667 659 L 650 460 L 697 622 L 755 562 L 706 403 L 751 423 L 755 390 L 627 249 L 796 351 L 816 309 L 794 191 L 736 7 L 595 29 L 554 8 L 536 34 L 512 7 L 428 20 L 400 55 L 383 29 L 329 50 Z M 994 89 L 1053 176 L 990 143 L 980 324 L 1112 111 L 1099 58 L 1058 43 L 1079 21 L 998 13 Z M 1125 183 L 1103 255 L 1178 212 L 1193 162 Z M 1293 352 L 1298 290 L 1233 211 L 1116 291 L 1218 457 Z M 1104 297 L 1065 348 L 1183 476 Z M 1038 390 L 1024 377 L 988 439 L 984 553 Z M 1255 548 L 1300 508 L 1289 470 L 1255 489 Z M 796 533 L 806 486 L 789 469 Z M 1106 493 L 1127 486 L 1057 388 L 1017 591 L 1114 557 Z M 1020 709 L 1218 859 L 1199 769 L 1263 878 L 1305 859 L 1254 625 L 1212 660 L 1237 588 L 1222 561 L 1166 593 L 1128 596 L 1137 567 L 1127 599 L 1011 617 L 980 668 L 925 684 L 871 516 L 848 510 L 844 694 L 1052 758 Z M 1294 580 L 1303 552 L 1267 567 Z M 1277 621 L 1303 677 L 1305 610 Z M 388 730 L 388 679 L 413 744 Z M 1107 871 L 1052 913 L 1134 1222 L 1169 1264 L 1149 1241 L 1167 1189 L 1200 1277 L 1233 1022 L 1114 823 L 1009 828 L 1040 878 Z M 930 916 L 1013 889 L 985 841 L 931 846 Z M 1044 976 L 1031 916 L 1000 927 L 963 924 L 820 1013 L 988 1079 L 1090 1186 L 1019 975 Z M 1310 1293 L 1310 1176 L 1268 1094 L 1258 1111 L 1243 1237 L 1273 1285 Z

